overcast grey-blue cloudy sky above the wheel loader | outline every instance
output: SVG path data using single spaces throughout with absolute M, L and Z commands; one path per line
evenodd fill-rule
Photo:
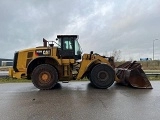
M 79 35 L 83 53 L 160 59 L 159 0 L 0 0 L 0 58 Z M 157 39 L 157 40 L 156 40 Z

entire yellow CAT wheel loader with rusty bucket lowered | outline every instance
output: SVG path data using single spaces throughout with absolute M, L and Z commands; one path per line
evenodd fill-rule
M 101 89 L 110 87 L 115 81 L 136 88 L 152 88 L 136 62 L 115 67 L 114 57 L 93 51 L 82 55 L 78 35 L 57 35 L 56 41 L 43 38 L 43 46 L 15 52 L 9 76 L 31 79 L 41 90 L 52 89 L 59 81 L 83 78 Z

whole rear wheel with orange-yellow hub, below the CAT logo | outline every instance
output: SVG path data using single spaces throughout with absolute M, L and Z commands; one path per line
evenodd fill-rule
M 58 82 L 57 70 L 49 64 L 38 65 L 31 75 L 32 83 L 41 90 L 53 88 Z

